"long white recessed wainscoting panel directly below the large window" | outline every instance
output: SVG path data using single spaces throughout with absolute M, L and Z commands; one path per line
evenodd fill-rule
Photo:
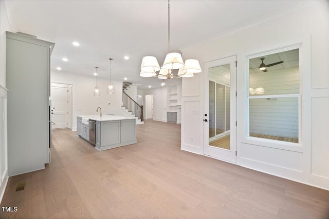
M 242 143 L 241 158 L 293 171 L 303 171 L 301 152 Z

